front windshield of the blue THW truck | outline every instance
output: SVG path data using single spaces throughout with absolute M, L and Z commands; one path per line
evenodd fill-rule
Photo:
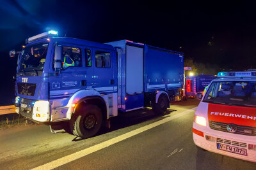
M 48 45 L 49 43 L 40 43 L 26 46 L 21 52 L 19 72 L 26 76 L 31 73 L 35 76 L 42 74 Z

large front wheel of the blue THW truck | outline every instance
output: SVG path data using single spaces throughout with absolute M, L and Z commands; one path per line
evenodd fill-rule
M 83 106 L 70 120 L 72 133 L 80 138 L 91 138 L 99 132 L 102 125 L 102 113 L 99 107 L 88 104 Z

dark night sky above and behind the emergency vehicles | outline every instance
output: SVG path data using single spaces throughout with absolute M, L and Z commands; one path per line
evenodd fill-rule
M 195 1 L 0 1 L 0 106 L 12 104 L 25 39 L 51 29 L 60 36 L 105 43 L 129 39 L 185 53 L 221 69 L 256 68 L 255 3 Z M 248 1 L 249 2 L 249 1 Z

